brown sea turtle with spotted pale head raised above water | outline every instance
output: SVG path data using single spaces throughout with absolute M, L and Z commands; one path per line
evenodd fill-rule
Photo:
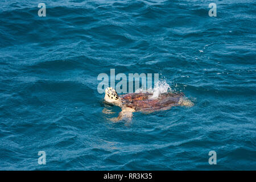
M 193 106 L 193 103 L 184 98 L 183 93 L 167 92 L 152 98 L 152 93 L 128 93 L 118 96 L 112 87 L 105 89 L 104 100 L 108 104 L 121 107 L 122 111 L 117 118 L 111 120 L 117 122 L 123 118 L 131 119 L 133 112 L 152 113 L 159 110 L 167 110 L 172 106 Z

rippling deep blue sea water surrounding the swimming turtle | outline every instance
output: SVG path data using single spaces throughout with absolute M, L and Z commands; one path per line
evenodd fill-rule
M 0 2 L 1 170 L 256 169 L 255 1 L 38 3 Z M 195 106 L 110 122 L 110 69 L 159 73 Z

